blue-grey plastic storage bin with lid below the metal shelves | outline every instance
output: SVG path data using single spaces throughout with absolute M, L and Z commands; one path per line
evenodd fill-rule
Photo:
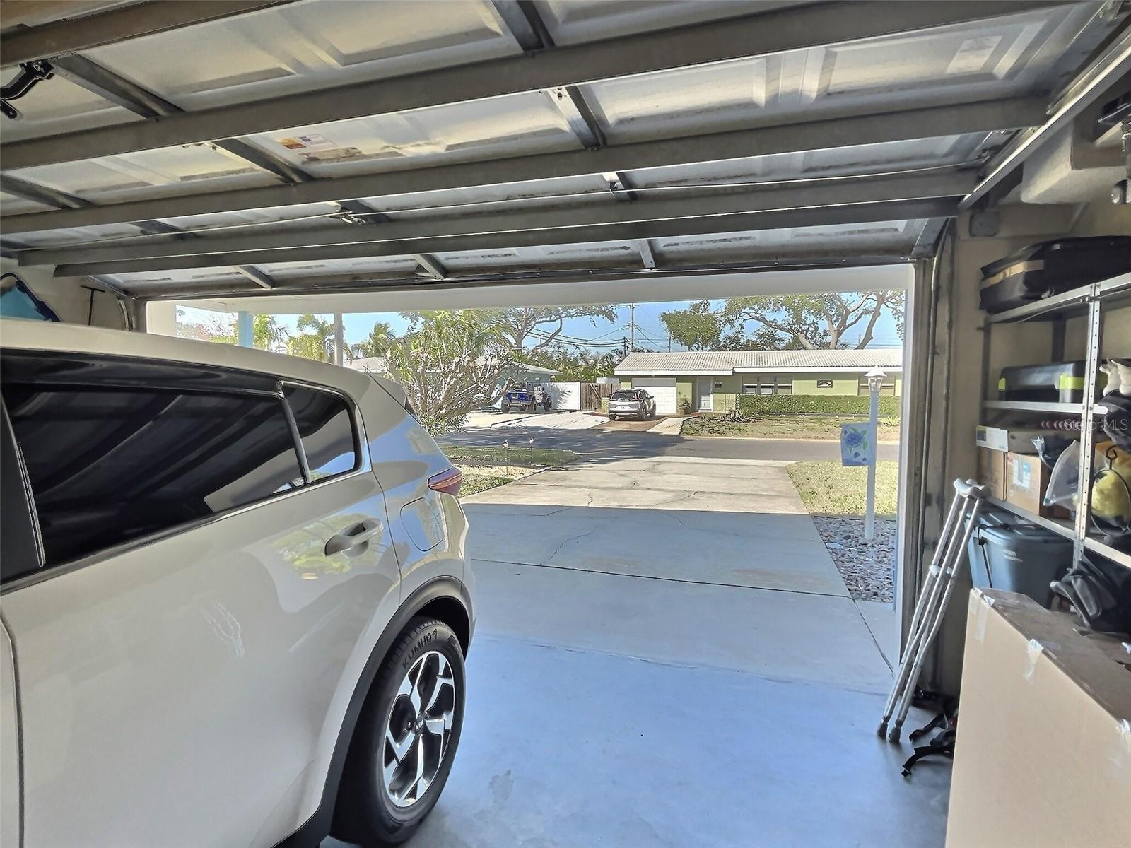
M 983 512 L 967 554 L 978 588 L 1028 595 L 1044 607 L 1052 602 L 1048 583 L 1072 563 L 1072 540 L 999 510 Z

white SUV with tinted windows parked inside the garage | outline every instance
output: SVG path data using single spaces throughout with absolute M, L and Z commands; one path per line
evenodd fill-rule
M 0 843 L 407 839 L 459 742 L 460 474 L 399 387 L 0 321 Z

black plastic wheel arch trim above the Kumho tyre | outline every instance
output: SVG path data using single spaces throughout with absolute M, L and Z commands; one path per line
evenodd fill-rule
M 459 646 L 467 656 L 470 646 L 474 621 L 472 616 L 470 597 L 467 588 L 454 577 L 439 577 L 421 586 L 397 608 L 396 614 L 381 631 L 365 667 L 354 686 L 349 706 L 346 708 L 338 739 L 334 745 L 330 767 L 326 775 L 326 786 L 322 788 L 322 799 L 314 814 L 299 830 L 278 842 L 275 848 L 317 848 L 330 834 L 334 822 L 334 811 L 337 806 L 342 776 L 345 771 L 346 755 L 353 743 L 354 730 L 361 717 L 362 707 L 377 677 L 381 663 L 396 641 L 397 635 L 413 618 L 428 615 L 439 618 L 451 628 L 459 639 Z

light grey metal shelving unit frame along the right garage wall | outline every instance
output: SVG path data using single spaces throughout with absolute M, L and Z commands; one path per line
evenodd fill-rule
M 1085 400 L 1076 404 L 1064 403 L 1038 403 L 1026 400 L 983 400 L 982 408 L 986 412 L 1005 415 L 1025 414 L 1051 414 L 1074 416 L 1080 419 L 1080 467 L 1079 479 L 1090 481 L 1093 476 L 1093 453 L 1096 443 L 1096 434 L 1093 427 L 1093 418 L 1104 415 L 1105 409 L 1095 404 L 1096 386 L 1099 379 L 1099 357 L 1103 344 L 1104 315 L 1112 309 L 1131 305 L 1131 274 L 1123 274 L 1100 283 L 1082 286 L 1071 292 L 1046 297 L 1041 301 L 1027 303 L 1024 306 L 987 315 L 985 320 L 985 362 L 988 366 L 990 346 L 993 328 L 1007 323 L 1020 323 L 1026 321 L 1052 321 L 1053 331 L 1053 360 L 1063 356 L 1064 351 L 1064 321 L 1070 318 L 1085 318 L 1087 320 L 1087 347 L 1086 367 L 1083 378 Z M 987 375 L 983 374 L 983 383 L 987 383 Z M 1027 510 L 990 499 L 994 507 L 1018 516 L 1031 523 L 1044 527 L 1047 530 L 1060 534 L 1073 542 L 1073 561 L 1079 560 L 1085 552 L 1090 552 L 1099 556 L 1107 557 L 1131 569 L 1131 551 L 1121 551 L 1105 544 L 1095 535 L 1091 527 L 1091 503 L 1090 497 L 1083 497 L 1082 509 L 1078 510 L 1074 520 L 1044 518 Z

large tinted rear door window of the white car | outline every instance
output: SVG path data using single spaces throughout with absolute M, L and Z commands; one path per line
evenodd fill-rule
M 270 395 L 14 382 L 48 565 L 302 485 L 283 401 Z

